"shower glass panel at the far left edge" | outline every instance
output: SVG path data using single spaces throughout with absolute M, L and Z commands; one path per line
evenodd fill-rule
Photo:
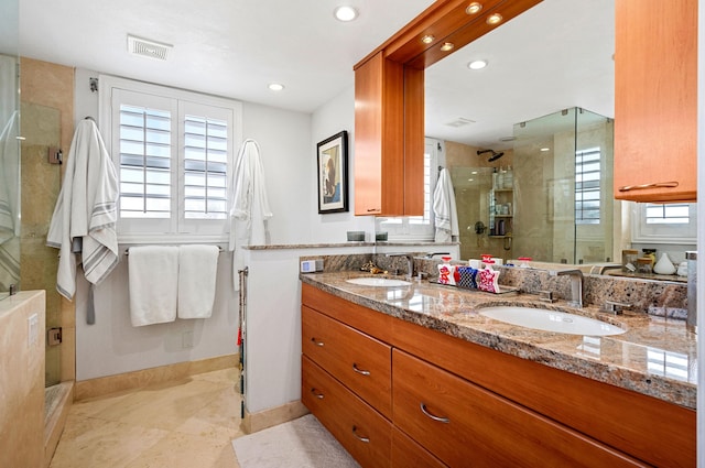
M 20 289 L 19 2 L 0 2 L 0 300 Z

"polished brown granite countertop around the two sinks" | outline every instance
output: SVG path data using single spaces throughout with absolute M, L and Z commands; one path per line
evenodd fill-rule
M 490 294 L 414 280 L 409 286 L 370 287 L 346 282 L 369 275 L 358 271 L 302 273 L 303 283 L 380 313 L 508 355 L 611 385 L 696 409 L 696 335 L 684 320 L 625 312 L 610 315 L 595 306 L 575 309 L 566 302 L 540 303 L 533 294 Z M 582 336 L 534 330 L 479 314 L 492 305 L 555 308 L 620 326 L 615 336 Z

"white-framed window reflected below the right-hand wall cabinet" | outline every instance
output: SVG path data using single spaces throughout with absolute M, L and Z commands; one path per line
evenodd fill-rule
M 696 243 L 697 204 L 632 203 L 632 242 Z

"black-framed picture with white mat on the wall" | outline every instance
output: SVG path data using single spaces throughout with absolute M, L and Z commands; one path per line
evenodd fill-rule
M 348 132 L 318 143 L 318 213 L 348 210 Z

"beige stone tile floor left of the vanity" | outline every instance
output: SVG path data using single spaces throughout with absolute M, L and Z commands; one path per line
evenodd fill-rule
M 225 369 L 76 402 L 50 468 L 239 468 L 238 383 Z

